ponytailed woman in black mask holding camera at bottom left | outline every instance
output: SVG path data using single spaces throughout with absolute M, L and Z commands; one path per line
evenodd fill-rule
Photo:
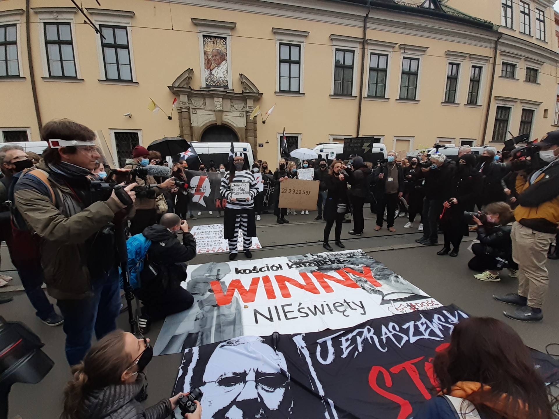
M 144 387 L 143 370 L 153 352 L 149 339 L 115 330 L 103 337 L 72 368 L 72 379 L 64 388 L 61 419 L 164 419 L 177 407 L 179 393 L 145 408 L 136 398 Z M 139 378 L 140 377 L 140 378 Z M 202 407 L 196 402 L 199 419 Z

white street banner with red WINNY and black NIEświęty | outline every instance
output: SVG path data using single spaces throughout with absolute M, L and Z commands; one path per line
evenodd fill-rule
M 212 262 L 187 273 L 183 287 L 195 303 L 165 319 L 156 355 L 243 335 L 352 327 L 441 305 L 362 250 Z

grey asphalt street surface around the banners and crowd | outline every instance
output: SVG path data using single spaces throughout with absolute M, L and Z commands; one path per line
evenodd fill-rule
M 462 244 L 457 258 L 437 256 L 440 246 L 424 247 L 415 243 L 420 237 L 415 228 L 408 230 L 402 228 L 407 221 L 405 218 L 396 220 L 396 233 L 390 233 L 386 226 L 381 231 L 373 231 L 375 216 L 367 214 L 365 208 L 365 234 L 354 237 L 348 234 L 351 224 L 343 225 L 342 240 L 346 249 L 363 249 L 373 258 L 381 261 L 390 269 L 399 273 L 411 283 L 417 285 L 432 297 L 443 304 L 454 303 L 472 316 L 490 316 L 505 321 L 512 326 L 525 344 L 544 351 L 547 344 L 559 342 L 559 305 L 556 298 L 559 294 L 559 285 L 556 283 L 559 273 L 559 261 L 548 261 L 551 278 L 551 287 L 543 307 L 544 319 L 539 323 L 523 323 L 510 320 L 503 316 L 503 310 L 508 306 L 492 299 L 494 293 L 516 291 L 517 280 L 510 279 L 506 271 L 501 277 L 501 282 L 487 283 L 473 278 L 474 272 L 467 267 L 467 261 L 472 254 L 467 250 L 470 242 Z M 316 212 L 310 215 L 289 216 L 288 225 L 278 225 L 273 215 L 263 215 L 257 222 L 258 237 L 262 249 L 253 252 L 254 259 L 272 258 L 282 255 L 297 255 L 305 253 L 318 253 L 324 251 L 321 246 L 324 222 L 314 221 Z M 197 220 L 189 220 L 191 226 L 222 222 L 222 218 L 205 215 Z M 333 237 L 332 232 L 332 237 Z M 475 234 L 466 240 L 472 240 Z M 442 237 L 441 237 L 442 239 Z M 337 250 L 333 239 L 330 245 Z M 17 273 L 9 261 L 5 246 L 0 249 L 2 256 L 2 271 L 15 277 L 13 284 L 18 284 Z M 240 255 L 239 258 L 244 258 Z M 228 260 L 227 254 L 201 254 L 192 264 L 206 263 L 207 261 Z M 8 271 L 8 272 L 7 272 Z M 2 294 L 6 295 L 6 294 Z M 25 293 L 10 293 L 14 300 L 0 305 L 0 316 L 7 320 L 24 322 L 45 342 L 44 350 L 54 360 L 53 370 L 39 384 L 16 384 L 10 394 L 10 418 L 17 415 L 22 419 L 54 419 L 61 412 L 61 396 L 65 382 L 70 378 L 70 371 L 64 357 L 64 332 L 62 327 L 49 327 L 35 316 L 35 312 Z M 122 314 L 118 319 L 119 326 L 127 330 L 127 315 Z M 163 321 L 155 323 L 147 335 L 154 343 L 157 339 Z M 149 378 L 149 398 L 145 402 L 153 404 L 159 399 L 169 397 L 176 379 L 177 370 L 181 362 L 181 354 L 162 355 L 154 357 L 147 369 Z

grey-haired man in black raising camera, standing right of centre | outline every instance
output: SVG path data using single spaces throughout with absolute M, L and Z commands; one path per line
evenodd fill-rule
M 425 178 L 423 191 L 423 237 L 415 240 L 425 246 L 438 244 L 439 216 L 443 202 L 450 196 L 451 179 L 456 166 L 444 154 L 433 154 L 429 162 L 423 163 L 418 178 Z

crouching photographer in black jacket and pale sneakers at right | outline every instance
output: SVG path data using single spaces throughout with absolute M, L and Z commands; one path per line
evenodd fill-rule
M 517 278 L 518 265 L 513 261 L 513 243 L 510 231 L 514 221 L 512 209 L 506 202 L 493 202 L 487 205 L 485 213 L 465 212 L 464 217 L 470 218 L 468 223 L 477 224 L 477 240 L 472 245 L 475 256 L 468 262 L 468 268 L 481 274 L 473 275 L 481 281 L 499 282 L 499 272 L 509 268 L 510 278 Z M 481 218 L 481 219 L 480 219 Z

